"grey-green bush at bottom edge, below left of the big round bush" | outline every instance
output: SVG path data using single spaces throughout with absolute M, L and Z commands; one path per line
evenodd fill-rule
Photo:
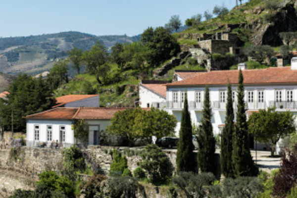
M 108 181 L 109 196 L 111 198 L 136 198 L 138 189 L 137 179 L 134 177 L 114 177 Z

